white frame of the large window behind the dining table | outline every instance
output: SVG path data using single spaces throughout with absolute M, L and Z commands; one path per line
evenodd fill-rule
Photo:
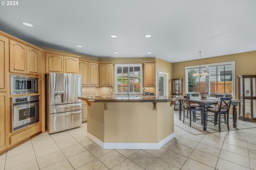
M 232 75 L 232 97 L 236 96 L 236 88 L 235 88 L 235 85 L 236 85 L 236 79 L 235 79 L 235 66 L 236 66 L 236 61 L 228 61 L 228 62 L 221 62 L 221 63 L 211 63 L 211 64 L 204 64 L 204 65 L 201 65 L 201 67 L 205 67 L 206 68 L 206 71 L 209 73 L 209 67 L 210 66 L 220 66 L 220 65 L 230 65 L 232 64 L 233 66 L 233 75 Z M 198 94 L 198 92 L 188 92 L 188 69 L 198 69 L 200 67 L 200 65 L 193 65 L 193 66 L 186 66 L 185 67 L 185 94 L 189 94 L 189 93 L 192 93 L 192 94 Z M 209 80 L 209 76 L 206 76 L 206 92 L 209 93 L 209 96 L 211 96 L 211 94 L 216 94 L 216 93 L 210 93 L 210 80 Z M 228 94 L 231 94 L 231 93 L 228 93 Z

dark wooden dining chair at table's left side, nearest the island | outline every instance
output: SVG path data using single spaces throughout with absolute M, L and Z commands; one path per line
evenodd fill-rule
M 189 118 L 189 126 L 191 127 L 191 121 L 196 122 L 196 121 L 201 121 L 202 125 L 202 107 L 196 107 L 195 105 L 191 105 L 190 103 L 190 96 L 184 96 L 184 99 L 182 100 L 182 105 L 183 105 L 183 123 L 185 121 L 185 117 Z M 185 116 L 185 110 L 187 111 L 187 115 Z M 196 116 L 196 111 L 200 111 L 200 116 Z M 189 116 L 188 116 L 189 112 Z M 192 116 L 192 117 L 191 117 Z M 198 118 L 200 117 L 200 118 Z

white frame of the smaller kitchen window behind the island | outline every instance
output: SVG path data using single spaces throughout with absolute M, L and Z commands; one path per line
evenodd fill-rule
M 136 64 L 115 64 L 115 94 L 127 94 L 127 92 L 122 92 L 118 93 L 118 88 L 117 88 L 117 67 L 140 67 L 140 92 L 130 92 L 130 94 L 142 94 L 143 93 L 143 73 L 142 73 L 142 64 L 136 63 Z

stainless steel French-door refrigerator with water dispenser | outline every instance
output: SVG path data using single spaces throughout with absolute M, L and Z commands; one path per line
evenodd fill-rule
M 81 75 L 46 75 L 46 130 L 60 132 L 82 125 Z

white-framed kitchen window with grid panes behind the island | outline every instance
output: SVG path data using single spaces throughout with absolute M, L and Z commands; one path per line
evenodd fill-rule
M 142 93 L 142 64 L 115 64 L 115 92 Z

